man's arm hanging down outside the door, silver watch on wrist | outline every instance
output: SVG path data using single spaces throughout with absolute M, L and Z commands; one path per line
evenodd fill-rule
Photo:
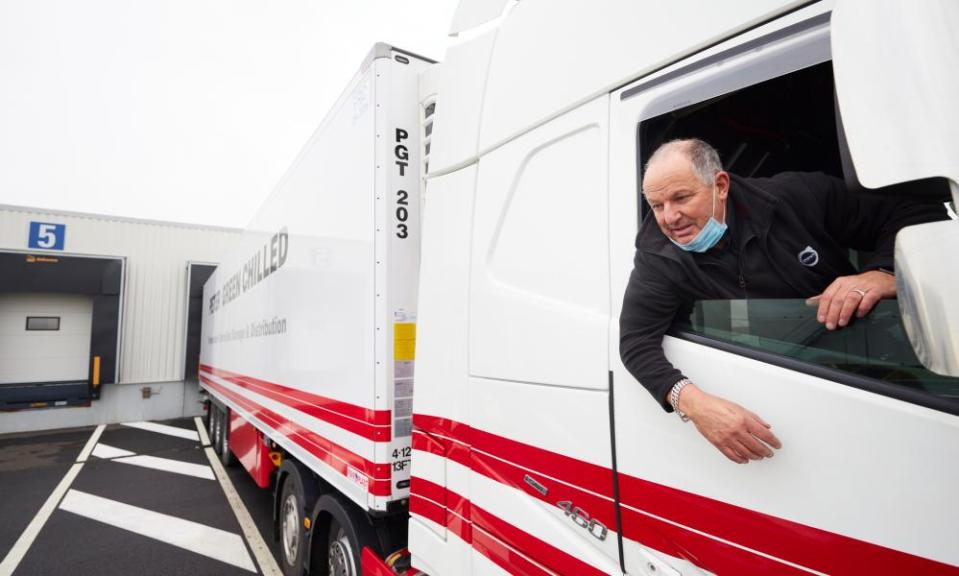
M 672 411 L 670 391 L 683 374 L 666 359 L 663 335 L 683 303 L 676 288 L 661 278 L 637 251 L 619 318 L 619 352 L 630 373 L 667 411 Z M 780 448 L 769 424 L 742 406 L 707 394 L 687 384 L 675 408 L 685 413 L 699 432 L 727 458 L 739 464 L 772 457 L 769 448 Z

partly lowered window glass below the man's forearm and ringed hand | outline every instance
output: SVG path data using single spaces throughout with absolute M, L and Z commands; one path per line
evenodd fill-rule
M 674 328 L 959 401 L 959 378 L 934 374 L 916 358 L 895 300 L 835 331 L 799 299 L 704 300 Z

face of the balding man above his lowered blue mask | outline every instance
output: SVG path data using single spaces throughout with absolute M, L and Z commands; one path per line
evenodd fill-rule
M 646 169 L 643 193 L 653 209 L 656 223 L 667 237 L 686 244 L 699 234 L 713 216 L 713 188 L 716 190 L 716 219 L 725 222 L 729 174 L 719 172 L 711 184 L 696 175 L 692 164 L 679 152 L 657 159 Z

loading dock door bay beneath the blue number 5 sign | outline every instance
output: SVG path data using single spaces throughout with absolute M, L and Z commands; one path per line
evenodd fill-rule
M 0 410 L 84 405 L 116 382 L 123 260 L 0 252 Z

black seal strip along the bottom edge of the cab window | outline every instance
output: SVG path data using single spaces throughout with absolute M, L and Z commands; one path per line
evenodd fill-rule
M 737 356 L 758 360 L 759 362 L 763 362 L 765 364 L 772 364 L 773 366 L 779 366 L 780 368 L 786 368 L 794 372 L 808 374 L 810 376 L 829 380 L 830 382 L 835 382 L 844 386 L 850 386 L 866 392 L 872 392 L 873 394 L 879 394 L 880 396 L 886 396 L 887 398 L 892 398 L 894 400 L 900 400 L 903 402 L 908 402 L 909 404 L 915 404 L 924 408 L 931 408 L 939 412 L 952 414 L 953 416 L 959 416 L 959 401 L 949 400 L 948 398 L 929 394 L 928 392 L 913 390 L 897 384 L 890 384 L 889 382 L 883 382 L 882 380 L 876 380 L 875 378 L 851 374 L 835 368 L 820 366 L 818 364 L 810 364 L 796 358 L 783 356 L 781 354 L 768 352 L 766 350 L 758 350 L 756 348 L 750 348 L 740 344 L 733 344 L 724 340 L 717 340 L 715 338 L 703 336 L 702 334 L 683 330 L 678 327 L 671 328 L 667 334 L 680 340 L 686 340 L 687 342 L 700 344 L 709 348 L 716 348 L 717 350 L 722 350 L 723 352 L 729 352 L 730 354 L 736 354 Z

